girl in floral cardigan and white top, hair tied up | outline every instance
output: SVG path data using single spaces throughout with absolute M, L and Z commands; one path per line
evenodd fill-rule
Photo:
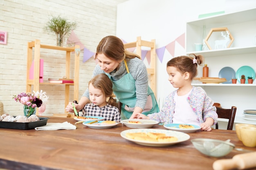
M 197 65 L 203 62 L 201 55 L 194 56 L 174 57 L 167 62 L 168 80 L 178 89 L 166 97 L 162 110 L 148 116 L 138 113 L 132 118 L 167 124 L 193 124 L 200 126 L 201 130 L 211 131 L 211 126 L 217 123 L 218 115 L 206 92 L 201 87 L 191 85 L 197 75 Z

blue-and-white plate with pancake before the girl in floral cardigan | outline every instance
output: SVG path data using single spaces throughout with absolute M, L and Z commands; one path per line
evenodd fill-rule
M 195 132 L 201 129 L 200 126 L 191 124 L 164 124 L 164 127 L 169 130 L 175 130 L 185 133 Z

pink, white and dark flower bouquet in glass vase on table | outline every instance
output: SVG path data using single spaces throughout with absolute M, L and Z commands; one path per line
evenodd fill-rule
M 40 107 L 43 104 L 43 101 L 46 103 L 48 97 L 46 96 L 46 93 L 39 93 L 34 92 L 33 93 L 19 93 L 18 96 L 13 95 L 13 99 L 16 102 L 20 102 L 24 105 L 24 114 L 29 117 L 30 115 L 33 115 L 35 113 L 35 108 Z

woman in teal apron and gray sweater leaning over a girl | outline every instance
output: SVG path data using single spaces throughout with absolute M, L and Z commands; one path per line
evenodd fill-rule
M 97 46 L 96 59 L 98 64 L 93 75 L 104 73 L 113 83 L 113 92 L 122 103 L 121 119 L 129 119 L 132 114 L 148 115 L 159 111 L 155 95 L 148 86 L 148 73 L 140 57 L 124 49 L 123 42 L 115 36 L 107 36 Z M 88 104 L 88 89 L 81 97 L 77 110 Z M 71 102 L 67 112 L 74 112 Z

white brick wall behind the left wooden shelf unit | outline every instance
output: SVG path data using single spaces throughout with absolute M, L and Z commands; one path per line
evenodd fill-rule
M 4 113 L 22 115 L 23 106 L 15 102 L 12 95 L 26 91 L 27 42 L 38 39 L 41 44 L 56 44 L 55 35 L 43 29 L 50 15 L 61 15 L 77 22 L 74 32 L 87 49 L 95 52 L 101 38 L 116 34 L 117 4 L 125 1 L 0 0 L 0 31 L 8 32 L 7 45 L 0 44 L 0 101 L 4 104 Z M 44 81 L 65 75 L 65 53 L 41 49 L 41 57 L 44 59 Z M 88 86 L 94 66 L 92 58 L 83 63 L 82 51 L 79 98 Z M 45 113 L 63 113 L 65 86 L 40 85 L 40 89 L 49 96 Z M 70 91 L 72 100 L 73 86 L 70 86 Z

